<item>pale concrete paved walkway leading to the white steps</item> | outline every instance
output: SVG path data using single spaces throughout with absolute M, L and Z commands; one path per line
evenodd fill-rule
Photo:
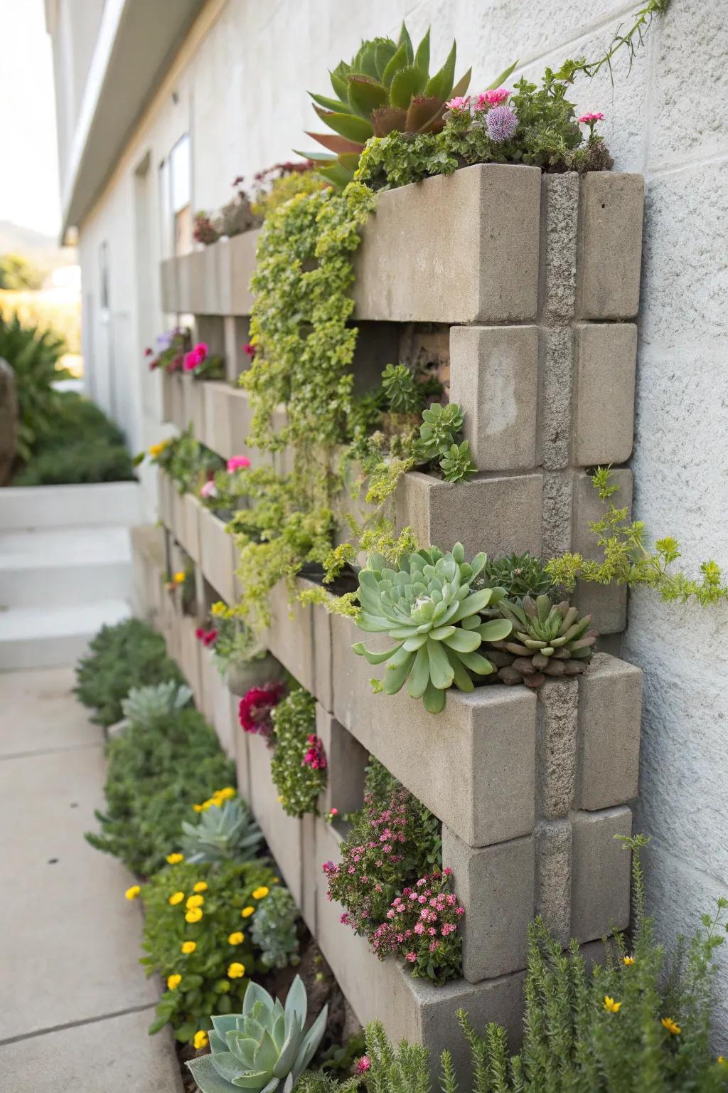
M 158 987 L 141 955 L 132 878 L 92 849 L 102 730 L 67 668 L 0 672 L 0 1089 L 179 1093 Z

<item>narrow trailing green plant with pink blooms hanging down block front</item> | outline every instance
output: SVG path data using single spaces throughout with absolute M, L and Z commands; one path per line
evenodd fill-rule
M 315 734 L 315 701 L 303 687 L 291 691 L 271 714 L 275 750 L 271 774 L 289 816 L 317 812 L 326 785 L 326 756 Z

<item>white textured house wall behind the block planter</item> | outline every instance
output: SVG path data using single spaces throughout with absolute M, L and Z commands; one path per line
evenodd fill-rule
M 159 435 L 157 377 L 145 374 L 150 330 L 165 328 L 156 272 L 140 310 L 139 165 L 148 155 L 148 200 L 158 208 L 157 172 L 179 136 L 192 141 L 192 207 L 229 199 L 236 175 L 250 176 L 290 149 L 306 150 L 315 116 L 306 89 L 327 86 L 326 70 L 360 37 L 413 37 L 433 26 L 435 62 L 460 44 L 458 73 L 474 61 L 472 87 L 515 59 L 536 78 L 568 56 L 594 55 L 639 7 L 610 0 L 211 0 L 210 26 L 167 81 L 122 156 L 102 199 L 81 225 L 84 356 L 98 401 L 134 446 Z M 214 11 L 213 11 L 214 9 Z M 212 17 L 211 17 L 212 11 Z M 215 14 L 217 13 L 217 14 Z M 203 12 L 203 16 L 205 12 Z M 673 0 L 626 73 L 602 71 L 574 97 L 607 116 L 616 169 L 646 178 L 637 365 L 634 515 L 651 540 L 672 534 L 694 574 L 713 556 L 728 571 L 728 127 L 724 104 L 728 48 L 721 4 Z M 202 17 L 202 16 L 201 16 Z M 192 32 L 193 35 L 194 32 Z M 685 73 L 690 73 L 687 85 Z M 520 73 L 516 73 L 516 77 Z M 512 78 L 513 79 L 513 78 Z M 172 94 L 174 93 L 174 94 Z M 144 236 L 154 271 L 168 247 L 158 218 Z M 98 256 L 109 255 L 110 306 L 98 307 Z M 150 317 L 151 315 L 151 317 Z M 110 331 L 110 337 L 109 337 Z M 385 362 L 383 362 L 385 363 Z M 487 546 L 487 544 L 484 544 Z M 622 655 L 645 671 L 641 798 L 635 830 L 653 835 L 646 856 L 651 905 L 666 938 L 692 932 L 699 915 L 728 892 L 726 727 L 728 604 L 663 604 L 634 592 Z M 718 1034 L 728 1034 L 728 972 L 721 963 Z M 725 1046 L 725 1044 L 724 1044 Z

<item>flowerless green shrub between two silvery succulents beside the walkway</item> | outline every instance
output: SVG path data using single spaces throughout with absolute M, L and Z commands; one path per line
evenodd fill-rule
M 235 781 L 235 764 L 195 709 L 130 725 L 107 753 L 106 810 L 96 813 L 102 833 L 86 838 L 144 877 L 179 845 L 192 806 Z

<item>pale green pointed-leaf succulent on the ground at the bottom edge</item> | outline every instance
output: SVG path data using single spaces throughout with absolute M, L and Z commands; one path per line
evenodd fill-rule
M 296 976 L 286 1004 L 275 1001 L 259 984 L 250 983 L 242 1013 L 212 1019 L 210 1055 L 188 1062 L 202 1093 L 290 1093 L 321 1043 L 329 1007 L 324 1006 L 303 1035 L 308 999 Z

